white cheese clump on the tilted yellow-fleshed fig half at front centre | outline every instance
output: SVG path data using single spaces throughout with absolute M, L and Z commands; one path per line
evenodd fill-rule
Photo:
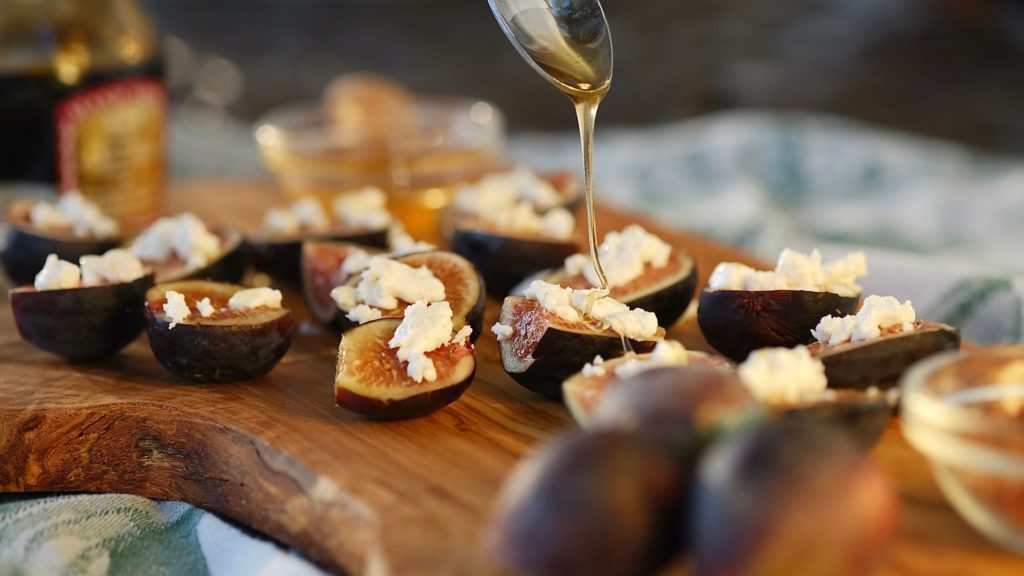
M 408 363 L 406 373 L 417 382 L 437 379 L 437 369 L 427 353 L 444 344 L 464 345 L 472 329 L 464 327 L 453 334 L 452 306 L 444 301 L 427 303 L 419 300 L 406 308 L 401 324 L 388 341 L 397 349 L 399 362 Z

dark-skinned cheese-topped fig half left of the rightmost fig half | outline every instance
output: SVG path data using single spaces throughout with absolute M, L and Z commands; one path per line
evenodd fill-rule
M 708 343 L 735 362 L 758 348 L 809 344 L 822 317 L 857 310 L 855 281 L 866 271 L 862 252 L 822 264 L 817 250 L 787 248 L 774 271 L 723 262 L 700 294 L 697 323 Z

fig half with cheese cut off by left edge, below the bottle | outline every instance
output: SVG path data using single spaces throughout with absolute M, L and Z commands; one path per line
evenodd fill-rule
M 122 241 L 117 222 L 78 193 L 65 194 L 55 204 L 14 200 L 4 220 L 7 230 L 0 261 L 15 285 L 32 284 L 49 254 L 77 262 Z

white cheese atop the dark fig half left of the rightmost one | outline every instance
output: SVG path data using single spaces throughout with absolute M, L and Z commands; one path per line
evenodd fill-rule
M 712 271 L 709 290 L 808 290 L 833 292 L 841 296 L 860 294 L 857 279 L 867 274 L 863 252 L 821 265 L 821 253 L 809 255 L 786 248 L 778 256 L 774 271 L 756 271 L 736 262 L 722 262 Z

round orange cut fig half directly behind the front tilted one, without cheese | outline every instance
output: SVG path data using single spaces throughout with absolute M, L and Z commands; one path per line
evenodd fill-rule
M 470 341 L 475 342 L 483 329 L 483 306 L 486 303 L 483 279 L 466 258 L 444 250 L 416 252 L 399 256 L 395 260 L 413 268 L 426 266 L 437 280 L 444 284 L 444 299 L 452 305 L 452 323 L 455 329 L 469 325 L 473 329 Z M 355 286 L 359 275 L 354 275 L 346 284 Z M 330 294 L 329 294 L 330 297 Z M 382 318 L 401 318 L 411 302 L 399 302 L 397 307 L 381 311 Z M 343 331 L 357 326 L 338 311 L 338 320 Z

